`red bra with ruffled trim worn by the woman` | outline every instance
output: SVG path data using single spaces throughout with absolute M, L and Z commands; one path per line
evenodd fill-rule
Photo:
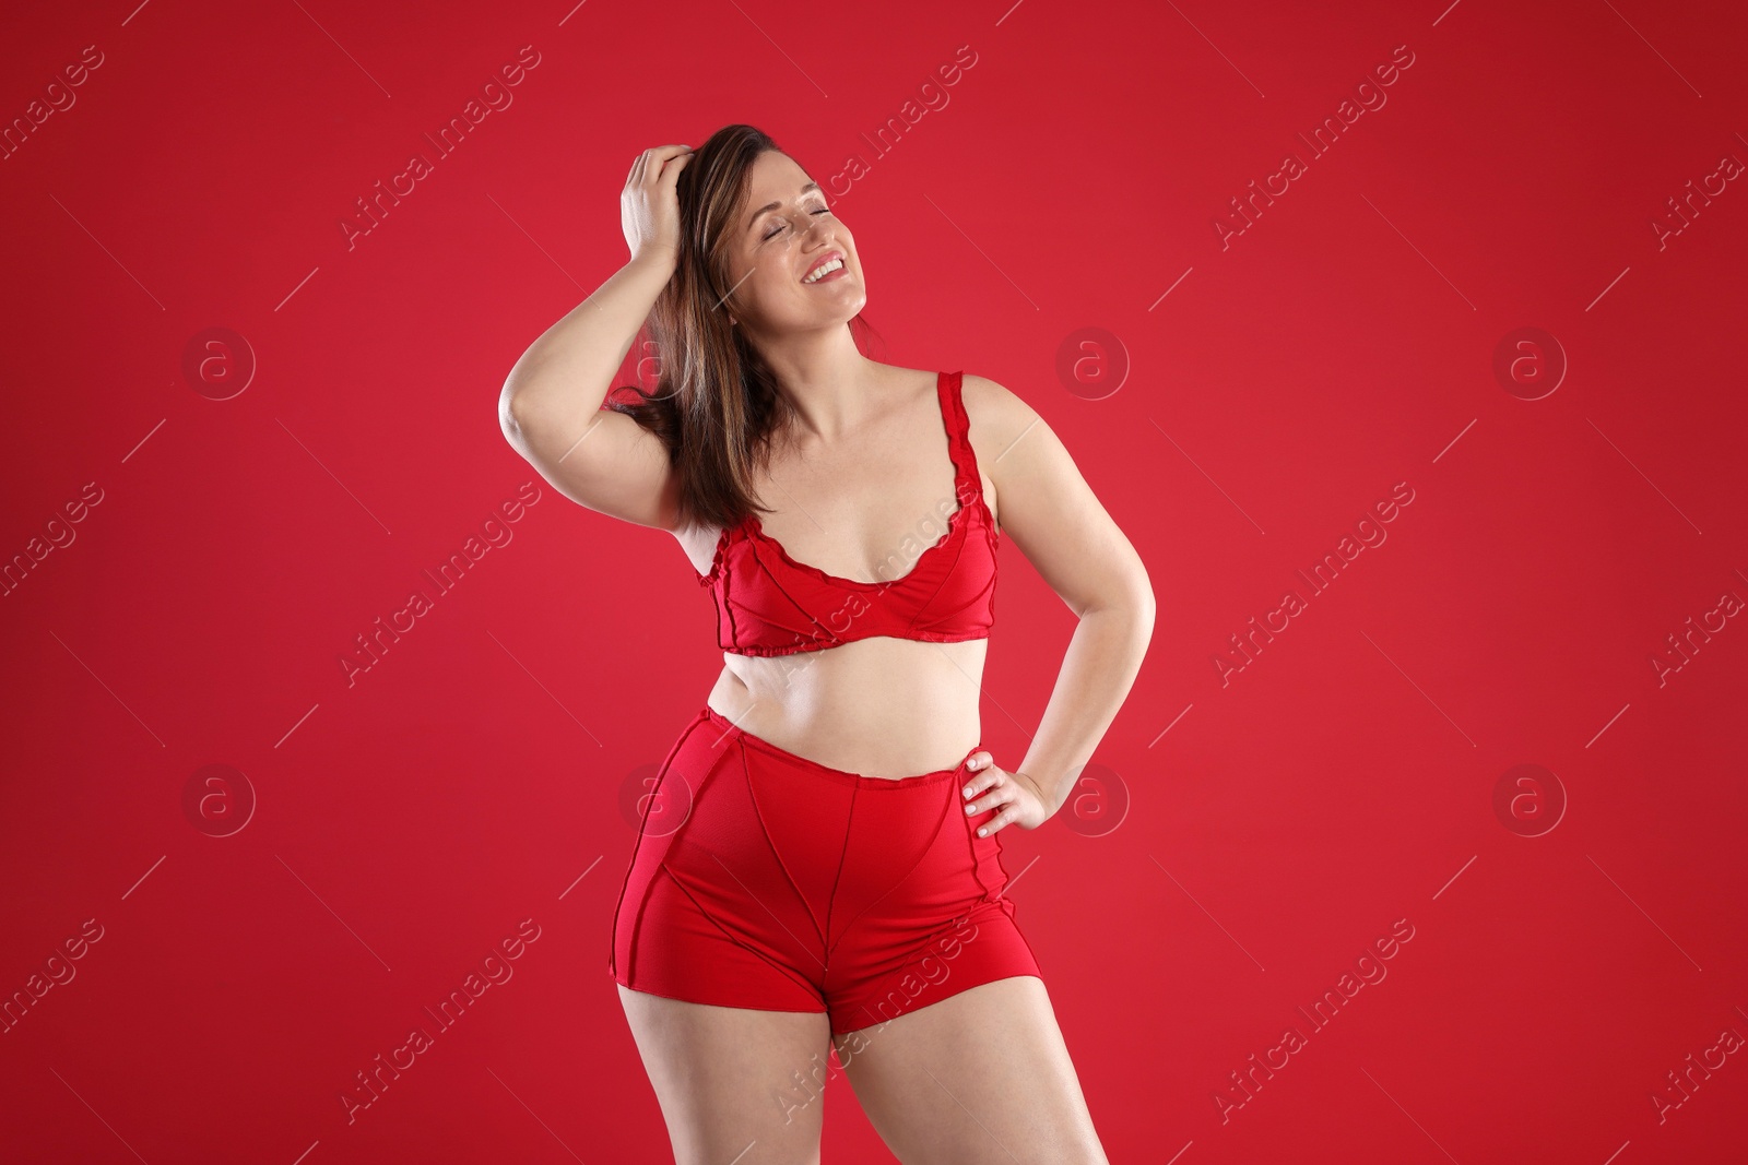
M 722 529 L 710 573 L 697 576 L 717 601 L 717 646 L 734 655 L 794 655 L 872 636 L 925 643 L 988 638 L 1002 534 L 984 503 L 961 379 L 961 372 L 942 372 L 935 384 L 958 508 L 909 573 L 872 583 L 836 578 L 788 557 L 748 514 Z

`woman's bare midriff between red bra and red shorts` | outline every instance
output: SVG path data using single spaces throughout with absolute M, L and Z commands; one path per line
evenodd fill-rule
M 911 777 L 979 744 L 988 639 L 874 636 L 822 651 L 724 653 L 706 700 L 743 732 L 829 769 Z

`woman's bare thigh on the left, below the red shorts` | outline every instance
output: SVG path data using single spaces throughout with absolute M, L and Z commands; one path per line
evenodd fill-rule
M 830 1025 L 619 987 L 676 1165 L 816 1165 Z

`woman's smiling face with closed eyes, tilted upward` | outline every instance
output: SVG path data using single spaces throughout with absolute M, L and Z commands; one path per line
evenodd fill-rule
M 753 162 L 731 231 L 724 306 L 750 337 L 841 327 L 867 304 L 855 238 L 787 154 L 766 150 Z M 834 257 L 841 271 L 804 281 Z

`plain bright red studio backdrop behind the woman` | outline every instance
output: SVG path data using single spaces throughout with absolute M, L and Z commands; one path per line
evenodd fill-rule
M 668 1160 L 608 922 L 622 789 L 720 667 L 710 601 L 671 538 L 542 482 L 496 395 L 624 262 L 633 157 L 745 121 L 837 196 L 877 355 L 1024 396 L 1152 573 L 1112 800 L 1003 833 L 1110 1158 L 1745 1158 L 1743 1055 L 1685 1099 L 1669 1072 L 1748 1032 L 1748 629 L 1668 638 L 1748 596 L 1748 190 L 1654 225 L 1748 159 L 1739 5 L 38 7 L 0 35 L 7 122 L 101 65 L 0 161 L 0 552 L 72 536 L 0 603 L 0 992 L 73 976 L 0 1034 L 0 1156 Z M 514 103 L 348 243 L 523 45 Z M 189 374 L 215 327 L 252 355 Z M 1502 381 L 1526 327 L 1550 341 Z M 1065 384 L 1080 328 L 1113 341 Z M 1295 571 L 1398 482 L 1313 597 Z M 510 540 L 437 592 L 482 531 Z M 1012 765 L 1072 617 L 1010 545 L 1002 571 Z M 241 776 L 189 809 L 206 765 Z M 1502 814 L 1517 765 L 1549 776 Z M 524 919 L 514 976 L 348 1121 Z M 1362 964 L 1388 976 L 1313 1031 L 1397 920 Z M 825 1160 L 890 1160 L 827 1095 Z

